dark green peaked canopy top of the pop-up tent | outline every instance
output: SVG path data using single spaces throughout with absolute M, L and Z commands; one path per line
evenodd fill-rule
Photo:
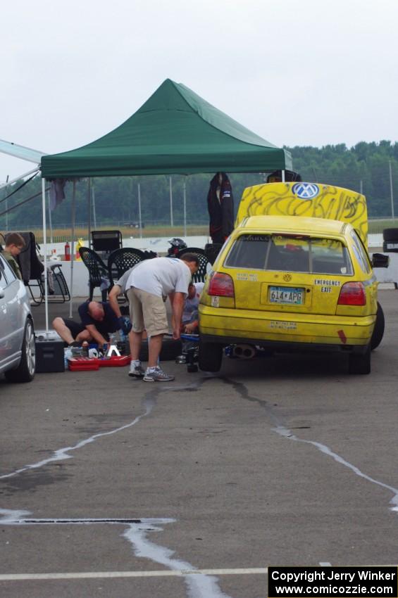
M 123 125 L 97 141 L 42 157 L 42 177 L 46 179 L 291 168 L 288 151 L 171 79 Z

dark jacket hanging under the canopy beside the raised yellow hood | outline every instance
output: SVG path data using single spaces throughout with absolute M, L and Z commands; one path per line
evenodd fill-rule
M 222 175 L 221 183 L 218 175 Z M 219 193 L 217 192 L 219 188 Z M 210 182 L 207 194 L 209 232 L 213 243 L 224 243 L 234 228 L 234 200 L 230 179 L 225 172 L 217 172 Z

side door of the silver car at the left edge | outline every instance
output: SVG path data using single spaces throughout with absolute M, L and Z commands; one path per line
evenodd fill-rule
M 18 364 L 20 359 L 25 314 L 22 297 L 20 281 L 0 255 L 0 371 Z

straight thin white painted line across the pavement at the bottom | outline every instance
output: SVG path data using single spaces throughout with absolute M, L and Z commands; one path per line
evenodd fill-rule
M 181 571 L 87 571 L 83 573 L 14 573 L 0 575 L 0 581 L 43 579 L 97 579 L 130 577 L 185 577 L 186 575 L 266 575 L 268 568 L 187 569 Z

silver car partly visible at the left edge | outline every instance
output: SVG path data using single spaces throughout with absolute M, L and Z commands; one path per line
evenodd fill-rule
M 25 285 L 0 253 L 0 374 L 10 382 L 30 382 L 35 369 L 35 331 Z

